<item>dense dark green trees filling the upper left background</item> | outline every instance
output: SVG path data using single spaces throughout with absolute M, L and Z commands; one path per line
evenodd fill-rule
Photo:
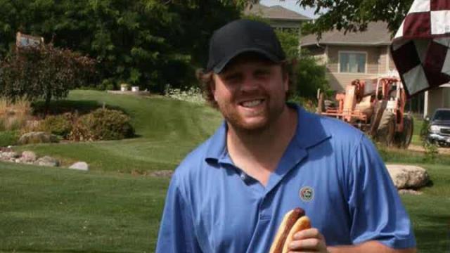
M 0 58 L 15 32 L 33 34 L 98 60 L 104 84 L 163 91 L 189 84 L 205 65 L 214 29 L 247 0 L 0 0 Z M 205 22 L 207 20 L 207 22 Z

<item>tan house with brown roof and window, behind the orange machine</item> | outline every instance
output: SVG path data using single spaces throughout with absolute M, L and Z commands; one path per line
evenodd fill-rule
M 300 46 L 309 50 L 326 64 L 330 87 L 345 91 L 354 79 L 378 77 L 397 72 L 390 55 L 391 33 L 385 22 L 371 22 L 364 32 L 333 30 L 322 34 L 318 41 L 315 34 L 300 39 Z M 425 92 L 413 98 L 407 109 L 430 115 L 435 108 L 450 108 L 450 85 Z

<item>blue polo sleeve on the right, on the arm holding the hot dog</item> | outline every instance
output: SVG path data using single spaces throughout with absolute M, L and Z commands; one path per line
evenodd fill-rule
M 349 166 L 350 236 L 354 244 L 377 240 L 392 248 L 415 247 L 411 221 L 373 143 L 362 136 Z

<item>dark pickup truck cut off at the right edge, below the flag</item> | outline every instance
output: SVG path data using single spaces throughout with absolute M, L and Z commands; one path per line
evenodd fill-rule
M 450 109 L 437 109 L 430 119 L 428 141 L 450 147 Z

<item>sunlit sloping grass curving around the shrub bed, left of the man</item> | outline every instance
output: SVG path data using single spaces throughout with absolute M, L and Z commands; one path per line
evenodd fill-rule
M 53 108 L 77 106 L 79 111 L 103 106 L 118 108 L 131 117 L 136 138 L 122 141 L 20 146 L 38 155 L 51 155 L 70 166 L 87 162 L 94 171 L 154 171 L 174 169 L 198 143 L 219 126 L 219 112 L 164 97 L 116 95 L 103 91 L 72 91 Z

